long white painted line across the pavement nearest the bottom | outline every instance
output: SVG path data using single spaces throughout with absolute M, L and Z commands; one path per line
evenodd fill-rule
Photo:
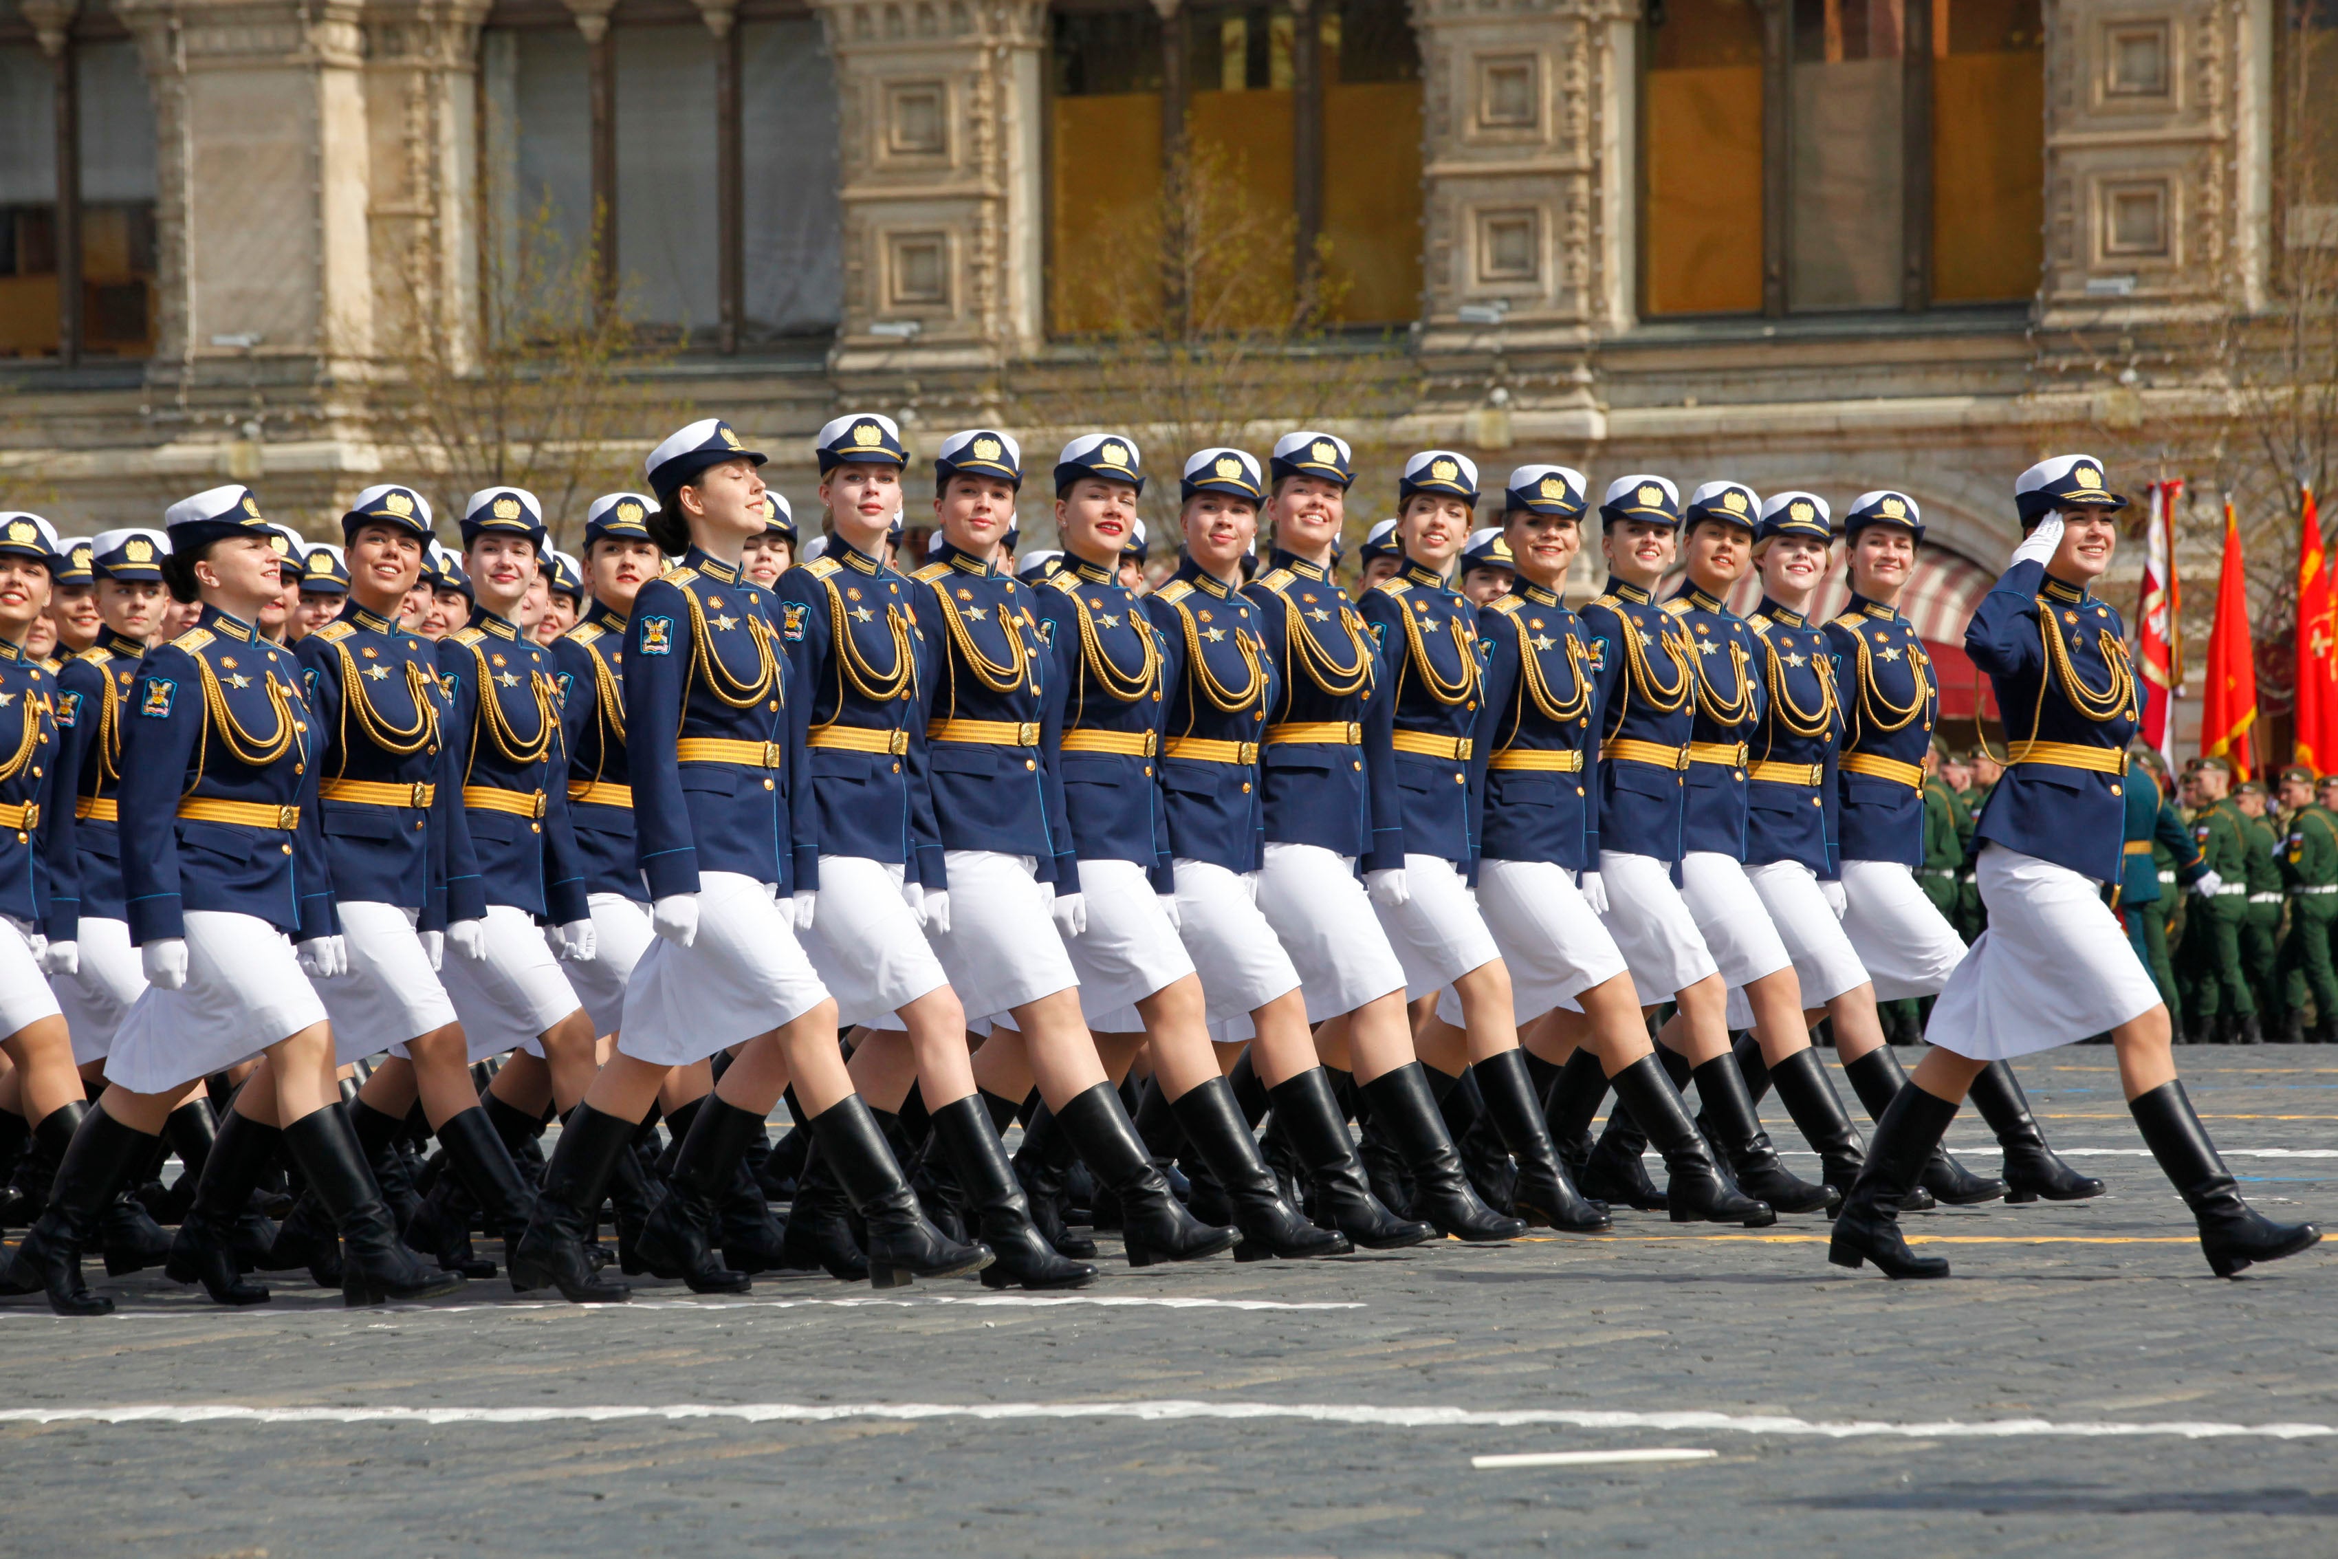
M 0 1423 L 617 1423 L 629 1419 L 736 1423 L 837 1423 L 844 1419 L 1136 1419 L 1181 1423 L 1195 1419 L 1342 1423 L 1356 1428 L 1609 1428 L 1609 1430 L 1725 1430 L 1739 1435 L 1817 1435 L 1826 1440 L 2315 1440 L 2338 1435 L 2333 1423 L 2214 1423 L 2165 1419 L 2097 1423 L 2053 1419 L 1789 1419 L 1728 1412 L 1595 1412 L 1557 1407 L 1356 1407 L 1333 1402 L 669 1402 L 662 1407 L 241 1407 L 234 1402 L 133 1407 L 5 1407 Z

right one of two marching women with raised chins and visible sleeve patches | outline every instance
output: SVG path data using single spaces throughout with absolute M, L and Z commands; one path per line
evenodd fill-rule
M 624 1300 L 594 1274 L 584 1239 L 620 1155 L 676 1066 L 732 1049 L 699 1101 L 669 1194 L 641 1236 L 650 1272 L 697 1293 L 743 1293 L 750 1276 L 708 1246 L 715 1199 L 786 1087 L 870 1229 L 870 1281 L 952 1276 L 989 1264 L 984 1246 L 926 1222 L 870 1108 L 837 1054 L 837 1005 L 797 942 L 804 748 L 790 741 L 790 690 L 762 587 L 739 554 L 765 526 L 765 456 L 722 421 L 692 423 L 645 460 L 659 510 L 650 535 L 680 561 L 641 587 L 624 629 L 627 771 L 636 858 L 657 942 L 627 984 L 617 1047 L 568 1115 L 514 1281 L 568 1300 Z

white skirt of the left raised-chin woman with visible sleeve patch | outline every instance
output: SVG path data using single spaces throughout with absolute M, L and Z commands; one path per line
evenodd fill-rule
M 105 1080 L 133 1094 L 168 1094 L 325 1021 L 285 933 L 224 909 L 189 909 L 185 919 L 185 989 L 147 986 L 105 1056 Z

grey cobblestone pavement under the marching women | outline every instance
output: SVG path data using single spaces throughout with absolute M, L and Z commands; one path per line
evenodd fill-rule
M 2338 1215 L 2338 1052 L 2179 1063 L 2259 1206 Z M 147 1276 L 101 1283 L 108 1321 L 9 1302 L 5 1409 L 332 1416 L 0 1421 L 0 1552 L 2338 1552 L 2338 1433 L 2100 1433 L 2338 1426 L 2338 1241 L 2214 1281 L 2109 1052 L 2022 1073 L 2050 1141 L 2111 1190 L 1910 1218 L 1957 1262 L 1948 1283 L 1838 1272 L 1817 1218 L 1623 1213 L 1602 1239 L 1316 1264 L 1132 1272 L 1106 1243 L 1073 1302 L 811 1276 L 746 1300 L 645 1283 L 594 1311 L 500 1279 L 400 1311 L 281 1286 L 227 1314 Z M 1969 1115 L 1950 1145 L 1994 1169 Z M 765 1407 L 575 1414 L 676 1405 Z M 2027 1426 L 1971 1430 L 1987 1421 Z M 1625 1447 L 1716 1456 L 1471 1466 Z

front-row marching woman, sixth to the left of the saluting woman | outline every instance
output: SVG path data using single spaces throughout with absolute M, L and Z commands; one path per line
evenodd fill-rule
M 1396 498 L 1405 566 L 1375 584 L 1358 610 L 1389 666 L 1398 827 L 1391 839 L 1372 818 L 1379 848 L 1365 860 L 1363 881 L 1405 970 L 1407 996 L 1452 989 L 1457 998 L 1461 1026 L 1431 1014 L 1414 1045 L 1440 1092 L 1459 1082 L 1464 1066 L 1475 1078 L 1501 1145 L 1517 1159 L 1513 1206 L 1529 1225 L 1597 1234 L 1611 1220 L 1576 1192 L 1550 1143 L 1517 1049 L 1510 970 L 1464 881 L 1478 858 L 1468 795 L 1482 699 L 1478 608 L 1445 584 L 1445 568 L 1468 540 L 1478 465 L 1424 449 L 1405 460 Z

